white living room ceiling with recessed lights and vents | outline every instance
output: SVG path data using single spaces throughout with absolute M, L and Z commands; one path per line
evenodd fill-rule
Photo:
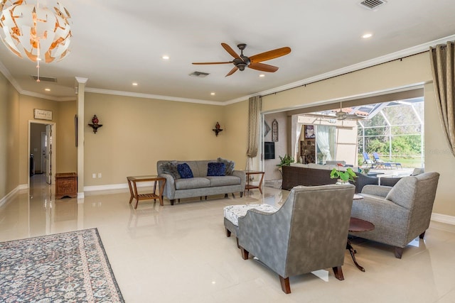
M 454 0 L 388 0 L 377 11 L 360 0 L 61 1 L 72 17 L 71 53 L 40 69 L 57 83 L 36 83 L 36 64 L 0 44 L 0 71 L 22 94 L 75 99 L 75 77 L 82 77 L 88 92 L 230 103 L 455 39 Z M 292 51 L 264 62 L 279 70 L 263 78 L 249 68 L 225 77 L 233 65 L 191 64 L 232 60 L 222 42 L 234 50 L 247 43 L 247 56 Z M 194 71 L 210 75 L 190 77 Z

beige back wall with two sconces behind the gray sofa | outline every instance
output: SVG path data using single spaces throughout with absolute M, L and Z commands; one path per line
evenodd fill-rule
M 156 174 L 158 160 L 228 157 L 230 132 L 223 106 L 85 94 L 85 186 L 124 184 L 130 175 Z M 102 128 L 88 126 L 96 114 Z M 223 131 L 212 131 L 216 122 Z M 102 174 L 92 178 L 92 174 Z

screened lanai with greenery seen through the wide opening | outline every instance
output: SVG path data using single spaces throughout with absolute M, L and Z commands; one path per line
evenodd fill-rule
M 339 104 L 337 109 L 299 115 L 298 122 L 297 162 L 326 164 L 348 159 L 350 165 L 361 166 L 364 155 L 371 160 L 375 155 L 403 167 L 424 166 L 423 97 L 351 107 Z M 314 128 L 316 134 L 314 160 L 307 157 L 308 148 L 301 146 L 312 143 L 306 140 L 307 128 Z

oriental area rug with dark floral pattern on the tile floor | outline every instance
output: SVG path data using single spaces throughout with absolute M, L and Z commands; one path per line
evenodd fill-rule
M 0 243 L 0 302 L 124 302 L 97 228 Z

